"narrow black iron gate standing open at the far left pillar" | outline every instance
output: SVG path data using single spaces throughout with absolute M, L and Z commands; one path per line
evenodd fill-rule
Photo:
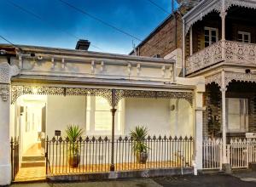
M 19 172 L 20 158 L 19 158 L 19 138 L 10 141 L 11 146 L 11 169 L 12 169 L 12 180 L 15 180 L 16 174 Z

